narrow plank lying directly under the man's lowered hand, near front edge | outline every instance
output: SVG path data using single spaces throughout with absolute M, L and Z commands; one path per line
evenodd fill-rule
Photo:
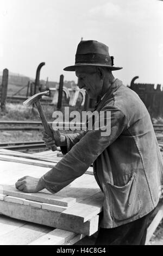
M 55 194 L 48 194 L 43 192 L 24 193 L 24 192 L 18 191 L 14 186 L 7 186 L 7 185 L 0 185 L 0 188 L 2 189 L 2 191 L 0 191 L 1 194 L 7 194 L 7 196 L 24 198 L 24 199 L 33 200 L 36 202 L 41 202 L 41 203 L 49 203 L 49 204 L 55 204 L 55 205 L 60 205 L 65 207 L 71 206 L 74 203 L 76 203 L 75 198 L 60 197 Z

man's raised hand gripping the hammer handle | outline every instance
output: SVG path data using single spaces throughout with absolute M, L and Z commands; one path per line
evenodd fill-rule
M 45 131 L 42 132 L 42 139 L 46 144 L 46 147 L 48 149 L 51 149 L 53 145 L 56 145 L 57 147 L 66 145 L 66 137 L 65 135 L 62 135 L 58 130 L 53 130 L 53 127 L 49 125 L 49 128 L 52 131 L 53 138 L 51 136 L 48 136 Z

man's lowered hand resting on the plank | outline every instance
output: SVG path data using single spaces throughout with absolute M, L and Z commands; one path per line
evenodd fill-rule
M 19 179 L 16 182 L 15 187 L 17 190 L 27 193 L 36 193 L 44 188 L 40 182 L 40 179 L 30 176 L 24 176 L 23 178 Z

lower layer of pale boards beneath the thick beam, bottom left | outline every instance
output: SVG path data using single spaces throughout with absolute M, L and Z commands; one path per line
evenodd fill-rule
M 84 236 L 0 215 L 0 245 L 73 245 Z

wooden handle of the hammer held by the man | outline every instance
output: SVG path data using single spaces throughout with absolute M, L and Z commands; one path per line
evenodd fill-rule
M 37 100 L 35 102 L 35 105 L 38 109 L 38 112 L 39 112 L 39 115 L 40 115 L 42 125 L 43 125 L 43 128 L 44 128 L 45 132 L 47 133 L 47 135 L 49 135 L 50 137 L 53 138 L 53 133 L 52 133 L 51 129 L 49 128 L 49 125 L 48 125 L 47 119 L 45 117 L 45 114 L 43 112 L 43 108 L 41 106 L 40 100 Z M 57 147 L 55 145 L 53 145 L 52 146 L 52 151 L 55 151 L 55 150 L 57 150 Z

